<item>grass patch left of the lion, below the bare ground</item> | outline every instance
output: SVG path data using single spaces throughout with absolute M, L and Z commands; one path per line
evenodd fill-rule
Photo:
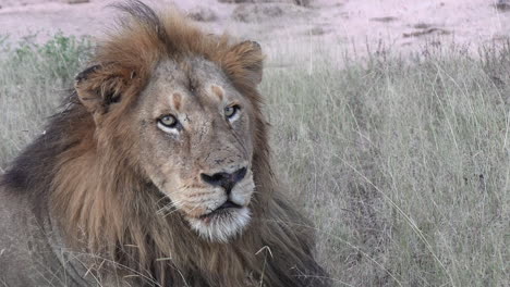
M 0 38 L 0 169 L 56 112 L 78 67 L 89 57 L 88 38 L 57 34 L 44 45 L 26 37 L 14 47 Z M 3 39 L 3 40 L 2 40 Z M 1 170 L 0 170 L 1 171 Z

